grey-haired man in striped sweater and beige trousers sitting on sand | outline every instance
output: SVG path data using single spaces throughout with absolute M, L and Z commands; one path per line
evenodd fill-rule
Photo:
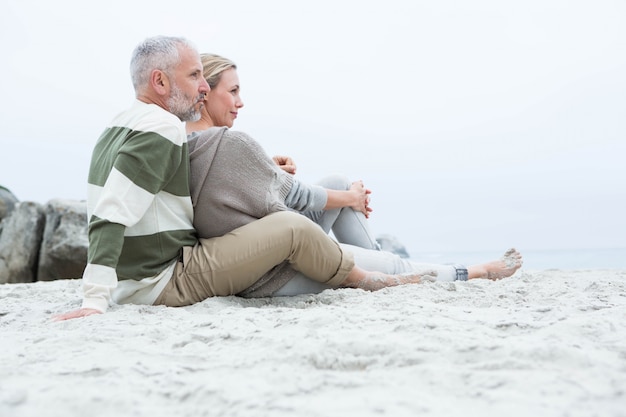
M 200 117 L 209 91 L 200 57 L 184 38 L 157 36 L 137 46 L 130 69 L 136 100 L 92 155 L 83 303 L 57 320 L 104 313 L 112 301 L 183 306 L 237 294 L 284 261 L 335 287 L 419 282 L 356 267 L 352 254 L 292 212 L 198 239 L 183 122 Z

